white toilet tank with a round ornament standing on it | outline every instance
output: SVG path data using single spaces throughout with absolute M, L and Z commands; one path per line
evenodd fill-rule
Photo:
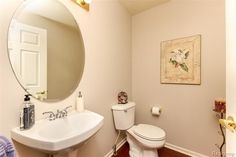
M 135 103 L 115 104 L 112 106 L 113 118 L 117 130 L 127 130 L 134 125 Z

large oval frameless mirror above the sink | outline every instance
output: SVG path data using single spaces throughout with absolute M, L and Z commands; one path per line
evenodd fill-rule
M 17 9 L 8 32 L 13 72 L 34 98 L 55 102 L 78 86 L 84 44 L 70 11 L 58 0 L 28 0 Z

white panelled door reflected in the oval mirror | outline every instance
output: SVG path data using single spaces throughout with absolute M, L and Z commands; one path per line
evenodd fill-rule
M 9 32 L 9 56 L 18 80 L 32 95 L 46 98 L 47 31 L 15 21 Z

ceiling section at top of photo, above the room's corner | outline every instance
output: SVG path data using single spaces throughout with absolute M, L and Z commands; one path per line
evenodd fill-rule
M 170 0 L 119 0 L 128 11 L 135 15 L 156 5 L 166 3 Z

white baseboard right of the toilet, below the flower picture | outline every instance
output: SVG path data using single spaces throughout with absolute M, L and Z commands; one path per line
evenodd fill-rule
M 200 153 L 197 153 L 197 152 L 194 152 L 194 151 L 191 151 L 191 150 L 179 147 L 179 146 L 175 146 L 175 145 L 170 144 L 170 143 L 165 143 L 165 147 L 169 148 L 169 149 L 172 149 L 174 151 L 183 153 L 185 155 L 189 155 L 191 157 L 209 157 L 209 156 L 206 156 L 206 155 L 203 155 L 203 154 L 200 154 Z

